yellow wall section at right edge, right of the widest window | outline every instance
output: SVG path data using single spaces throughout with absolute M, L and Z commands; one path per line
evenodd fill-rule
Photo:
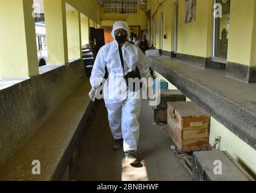
M 255 0 L 231 1 L 228 45 L 229 62 L 250 65 L 252 30 L 254 27 L 253 17 L 255 17 Z M 252 55 L 254 54 L 252 53 Z

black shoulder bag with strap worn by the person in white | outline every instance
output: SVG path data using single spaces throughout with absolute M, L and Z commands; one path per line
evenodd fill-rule
M 139 89 L 136 90 L 136 84 L 134 82 L 133 82 L 133 85 L 131 85 L 131 83 L 129 84 L 129 78 L 133 78 L 131 80 L 134 80 L 134 78 L 139 78 L 139 80 L 140 80 L 142 78 L 140 76 L 140 71 L 136 66 L 136 71 L 135 72 L 131 71 L 131 72 L 128 72 L 128 74 L 125 75 L 124 63 L 123 63 L 123 54 L 122 54 L 122 49 L 121 49 L 120 46 L 119 46 L 119 55 L 120 55 L 120 60 L 121 60 L 122 67 L 123 67 L 123 75 L 124 75 L 124 78 L 125 78 L 125 81 L 126 81 L 126 85 L 127 85 L 127 87 L 129 88 L 129 90 L 131 92 L 136 92 L 137 90 L 139 90 L 142 87 L 142 83 L 140 82 Z

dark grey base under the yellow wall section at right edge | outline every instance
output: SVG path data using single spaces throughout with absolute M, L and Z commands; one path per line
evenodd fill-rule
M 228 62 L 226 76 L 244 81 L 245 83 L 256 83 L 256 67 Z

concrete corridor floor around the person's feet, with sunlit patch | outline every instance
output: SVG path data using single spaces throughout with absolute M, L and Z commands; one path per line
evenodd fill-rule
M 161 125 L 154 125 L 153 120 L 153 110 L 148 101 L 143 101 L 137 151 L 140 163 L 131 166 L 126 163 L 122 150 L 111 150 L 113 138 L 108 126 L 107 109 L 103 101 L 99 101 L 80 139 L 77 159 L 70 169 L 71 180 L 191 180 L 189 172 L 170 148 L 173 142 L 167 131 Z

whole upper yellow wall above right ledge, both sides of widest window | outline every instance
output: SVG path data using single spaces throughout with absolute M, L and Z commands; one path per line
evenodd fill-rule
M 156 48 L 160 48 L 161 12 L 164 25 L 163 49 L 174 50 L 174 0 L 149 0 L 147 10 L 156 22 Z M 160 3 L 163 3 L 159 6 Z M 256 2 L 232 0 L 229 22 L 228 61 L 256 66 Z M 212 50 L 212 0 L 197 0 L 196 20 L 185 24 L 185 0 L 179 0 L 178 52 L 211 57 Z M 158 9 L 157 9 L 158 8 Z M 153 44 L 153 19 L 151 20 L 151 45 Z M 226 24 L 225 24 L 226 25 Z M 253 30 L 254 29 L 254 30 Z

